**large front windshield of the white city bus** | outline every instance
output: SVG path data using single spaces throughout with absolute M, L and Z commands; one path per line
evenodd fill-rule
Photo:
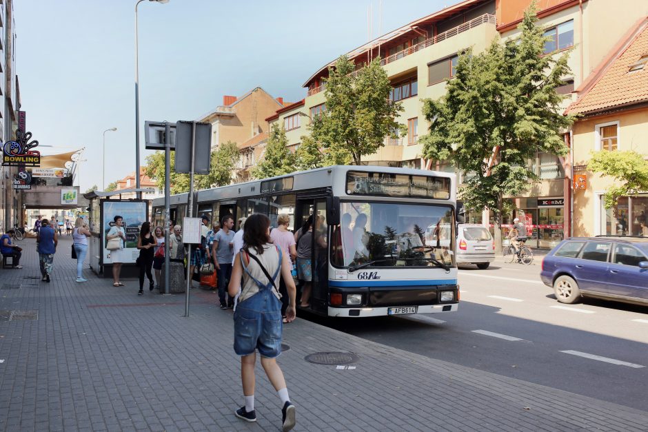
M 341 203 L 331 262 L 336 267 L 454 265 L 454 210 L 445 205 Z

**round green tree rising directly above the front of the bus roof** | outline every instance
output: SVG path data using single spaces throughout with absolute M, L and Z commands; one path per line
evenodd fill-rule
M 313 140 L 323 149 L 325 165 L 360 164 L 361 156 L 383 147 L 386 136 L 398 137 L 403 110 L 389 99 L 392 86 L 375 59 L 352 74 L 355 64 L 341 56 L 325 79 L 326 110 L 310 124 Z

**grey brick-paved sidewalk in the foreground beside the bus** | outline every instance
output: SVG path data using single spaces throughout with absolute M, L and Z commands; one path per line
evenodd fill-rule
M 76 283 L 70 240 L 41 282 L 33 239 L 24 269 L 0 269 L 0 429 L 235 431 L 281 429 L 280 401 L 257 369 L 256 424 L 243 404 L 232 311 L 210 291 L 161 296 L 136 280 Z M 35 315 L 26 319 L 28 311 Z M 285 326 L 279 364 L 301 431 L 646 431 L 648 413 L 431 360 L 305 320 Z M 407 337 L 407 335 L 403 335 Z M 412 344 L 420 343 L 412 341 Z M 310 353 L 356 353 L 356 369 Z M 547 373 L 550 373 L 547 365 Z M 594 378 L 594 377 L 593 377 Z M 605 389 L 601 389 L 605 391 Z

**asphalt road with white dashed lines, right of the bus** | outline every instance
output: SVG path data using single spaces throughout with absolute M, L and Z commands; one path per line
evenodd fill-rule
M 308 318 L 429 358 L 648 411 L 648 307 L 563 305 L 539 273 L 539 259 L 460 267 L 454 313 Z

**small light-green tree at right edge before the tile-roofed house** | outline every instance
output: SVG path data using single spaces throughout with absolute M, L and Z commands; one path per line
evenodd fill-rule
M 648 161 L 642 154 L 625 152 L 591 152 L 587 168 L 602 176 L 614 178 L 616 185 L 605 191 L 605 208 L 611 209 L 618 198 L 648 190 Z

